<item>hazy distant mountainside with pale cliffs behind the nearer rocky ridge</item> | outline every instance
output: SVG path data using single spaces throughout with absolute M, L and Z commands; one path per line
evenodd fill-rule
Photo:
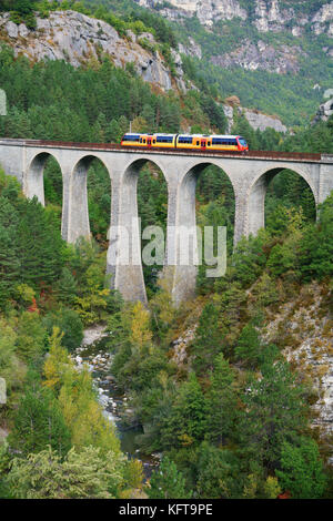
M 84 0 L 125 20 L 160 16 L 215 95 L 303 126 L 332 88 L 332 2 Z M 196 3 L 196 9 L 192 10 Z M 143 7 L 148 9 L 143 9 Z

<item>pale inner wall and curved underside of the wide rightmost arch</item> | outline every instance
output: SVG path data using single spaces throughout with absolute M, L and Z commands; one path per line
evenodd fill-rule
M 283 164 L 271 168 L 263 168 L 255 175 L 248 188 L 248 235 L 255 235 L 260 228 L 265 226 L 265 196 L 271 181 L 284 170 L 290 170 L 302 177 L 309 185 L 315 205 L 317 204 L 317 194 L 315 186 L 307 173 L 293 164 Z

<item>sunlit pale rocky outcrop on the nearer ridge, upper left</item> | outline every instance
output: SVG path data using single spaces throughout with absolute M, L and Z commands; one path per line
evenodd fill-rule
M 139 43 L 140 38 L 153 41 L 153 35 L 144 33 L 128 40 L 119 37 L 108 23 L 74 11 L 54 11 L 47 19 L 37 19 L 37 30 L 31 31 L 21 23 L 9 20 L 9 14 L 0 17 L 0 41 L 9 43 L 16 55 L 24 54 L 30 60 L 65 60 L 79 67 L 89 59 L 109 54 L 117 67 L 134 63 L 143 80 L 158 84 L 163 90 L 171 89 L 171 74 L 159 52 L 149 52 Z M 179 57 L 180 58 L 180 57 Z M 178 63 L 179 86 L 184 88 L 181 60 Z

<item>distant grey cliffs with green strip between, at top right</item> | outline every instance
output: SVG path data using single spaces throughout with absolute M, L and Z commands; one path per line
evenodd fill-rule
M 193 34 L 181 52 L 223 69 L 241 67 L 279 74 L 297 74 L 302 62 L 312 62 L 313 42 L 316 59 L 332 60 L 333 2 L 302 0 L 135 0 L 158 10 L 169 20 L 188 25 L 196 17 L 202 27 L 221 40 L 208 41 Z M 233 30 L 229 23 L 233 23 Z M 235 29 L 238 27 L 238 29 Z M 191 31 L 190 31 L 191 33 Z M 189 34 L 189 31 L 188 31 Z M 228 37 L 230 34 L 230 37 Z M 323 44 L 321 42 L 323 39 Z M 224 41 L 221 44 L 221 41 Z M 228 45 L 232 41 L 232 45 Z M 294 42 L 294 43 L 293 43 Z M 229 49 L 225 49 L 225 45 Z M 222 51 L 222 52 L 221 52 Z

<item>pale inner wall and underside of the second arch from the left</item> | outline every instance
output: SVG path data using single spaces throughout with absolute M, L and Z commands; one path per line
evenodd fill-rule
M 111 172 L 105 162 L 94 154 L 82 156 L 73 166 L 69 183 L 69 225 L 68 242 L 75 243 L 79 237 L 90 237 L 90 221 L 88 208 L 88 171 L 93 161 L 98 160 L 108 171 L 112 191 Z

